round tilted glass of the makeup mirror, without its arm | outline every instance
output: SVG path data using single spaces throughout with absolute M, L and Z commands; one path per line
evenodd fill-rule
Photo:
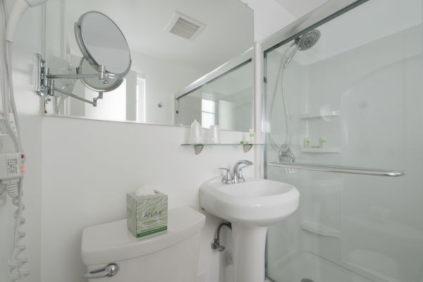
M 130 70 L 128 42 L 108 16 L 97 11 L 84 13 L 75 23 L 75 37 L 95 71 L 104 66 L 109 78 L 123 78 Z

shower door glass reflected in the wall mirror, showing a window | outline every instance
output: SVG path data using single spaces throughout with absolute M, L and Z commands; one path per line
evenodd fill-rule
M 190 125 L 197 120 L 203 128 L 219 125 L 223 130 L 248 131 L 252 128 L 253 77 L 250 59 L 176 98 L 176 121 Z

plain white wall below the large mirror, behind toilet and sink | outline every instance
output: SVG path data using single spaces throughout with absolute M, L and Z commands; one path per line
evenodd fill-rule
M 125 194 L 152 183 L 169 196 L 169 207 L 199 209 L 200 184 L 238 159 L 254 158 L 242 147 L 182 147 L 188 128 L 137 123 L 43 119 L 42 281 L 76 282 L 82 228 L 125 218 Z M 204 130 L 204 132 L 207 132 Z M 247 134 L 221 132 L 223 142 Z M 245 169 L 252 176 L 254 168 Z M 207 215 L 199 262 L 201 282 L 219 281 L 220 254 L 210 249 L 219 219 Z M 51 267 L 54 266 L 54 267 Z M 224 271 L 224 269 L 220 269 Z

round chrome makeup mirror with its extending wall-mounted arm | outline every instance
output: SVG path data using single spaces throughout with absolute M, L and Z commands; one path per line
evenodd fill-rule
M 98 11 L 82 14 L 75 23 L 75 38 L 82 52 L 80 65 L 76 74 L 53 75 L 45 66 L 46 61 L 37 54 L 36 92 L 40 96 L 54 96 L 60 92 L 75 99 L 97 106 L 97 100 L 102 99 L 104 92 L 119 87 L 125 75 L 130 71 L 131 59 L 128 42 L 118 25 L 111 18 Z M 80 79 L 82 84 L 90 90 L 99 92 L 99 96 L 92 101 L 79 97 L 62 88 L 54 87 L 56 79 Z

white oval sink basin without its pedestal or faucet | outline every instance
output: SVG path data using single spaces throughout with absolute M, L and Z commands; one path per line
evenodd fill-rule
M 298 208 L 300 193 L 288 183 L 247 178 L 244 183 L 223 184 L 221 177 L 200 186 L 200 206 L 231 223 L 270 226 Z

